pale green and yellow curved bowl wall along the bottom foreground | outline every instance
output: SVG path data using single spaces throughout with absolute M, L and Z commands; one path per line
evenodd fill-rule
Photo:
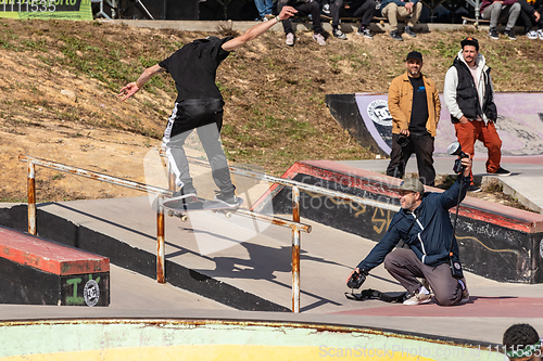
M 1 360 L 504 360 L 491 345 L 323 324 L 220 320 L 0 323 Z

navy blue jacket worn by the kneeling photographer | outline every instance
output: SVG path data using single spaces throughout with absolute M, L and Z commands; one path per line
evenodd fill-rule
M 466 196 L 469 177 L 460 177 L 443 193 L 425 193 L 422 203 L 414 212 L 400 209 L 387 230 L 382 240 L 371 249 L 358 268 L 366 272 L 381 265 L 384 257 L 392 252 L 400 240 L 413 249 L 422 263 L 439 266 L 449 261 L 449 248 L 453 236 L 453 225 L 449 209 L 456 206 L 458 192 L 460 202 Z M 453 242 L 453 260 L 459 263 L 458 245 Z

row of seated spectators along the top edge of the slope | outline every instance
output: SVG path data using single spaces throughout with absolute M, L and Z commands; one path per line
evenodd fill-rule
M 341 29 L 341 20 L 359 24 L 357 36 L 368 39 L 374 38 L 370 30 L 370 22 L 377 17 L 387 20 L 390 25 L 390 37 L 403 41 L 405 34 L 416 37 L 415 25 L 419 22 L 422 12 L 420 0 L 254 0 L 258 10 L 256 21 L 266 22 L 274 17 L 274 10 L 280 12 L 285 5 L 298 10 L 298 17 L 304 17 L 313 26 L 313 39 L 321 46 L 326 46 L 326 36 L 321 27 L 323 18 L 330 21 L 332 35 L 340 40 L 346 40 L 348 36 Z M 543 0 L 482 0 L 480 17 L 489 22 L 489 37 L 500 39 L 497 25 L 503 23 L 504 37 L 516 40 L 514 26 L 523 27 L 523 34 L 529 39 L 543 40 L 543 22 L 541 13 Z M 405 22 L 403 29 L 399 29 L 399 21 Z M 294 31 L 292 21 L 282 22 L 287 44 L 294 44 Z

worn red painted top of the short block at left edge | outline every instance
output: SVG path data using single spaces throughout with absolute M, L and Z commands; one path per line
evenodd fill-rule
M 0 257 L 59 275 L 109 272 L 110 259 L 0 228 Z

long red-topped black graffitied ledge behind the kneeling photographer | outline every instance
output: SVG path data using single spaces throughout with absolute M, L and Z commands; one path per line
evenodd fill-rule
M 397 205 L 401 180 L 333 162 L 300 162 L 282 178 Z M 432 192 L 443 192 L 427 188 Z M 290 189 L 272 188 L 274 212 L 291 212 Z M 265 196 L 253 206 L 264 206 Z M 380 241 L 393 212 L 301 192 L 301 217 Z M 452 209 L 453 212 L 455 209 Z M 456 237 L 464 268 L 501 282 L 543 283 L 543 216 L 466 197 Z

